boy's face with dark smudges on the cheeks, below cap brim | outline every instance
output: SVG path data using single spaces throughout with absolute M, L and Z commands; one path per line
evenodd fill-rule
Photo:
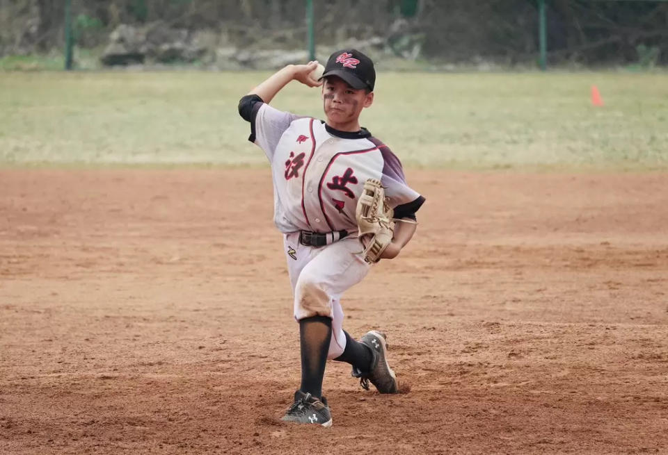
M 363 108 L 374 102 L 374 92 L 356 90 L 341 78 L 330 76 L 322 85 L 325 115 L 332 124 L 356 122 Z

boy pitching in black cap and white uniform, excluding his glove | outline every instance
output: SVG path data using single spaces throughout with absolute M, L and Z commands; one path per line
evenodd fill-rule
M 340 299 L 365 277 L 372 262 L 395 258 L 411 240 L 415 212 L 424 198 L 408 187 L 392 151 L 360 127 L 360 113 L 374 101 L 372 60 L 346 49 L 332 54 L 318 80 L 310 75 L 316 67 L 317 62 L 310 62 L 280 69 L 241 98 L 239 114 L 250 122 L 248 140 L 271 163 L 274 222 L 283 233 L 299 322 L 301 385 L 283 420 L 331 427 L 322 395 L 328 358 L 350 363 L 353 377 L 367 390 L 371 382 L 381 393 L 397 392 L 385 335 L 369 331 L 354 340 L 342 328 Z M 321 87 L 325 121 L 269 106 L 290 81 Z M 371 248 L 357 237 L 356 217 L 368 179 L 380 182 L 393 218 L 404 220 L 396 222 L 385 249 L 372 260 L 366 254 Z

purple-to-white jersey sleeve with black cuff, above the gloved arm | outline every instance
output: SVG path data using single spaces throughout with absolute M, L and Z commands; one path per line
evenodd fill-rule
M 420 210 L 426 199 L 408 186 L 401 161 L 389 147 L 381 145 L 379 148 L 383 156 L 381 185 L 385 188 L 385 196 L 390 199 L 390 206 L 395 209 L 395 218 L 415 220 L 415 213 Z

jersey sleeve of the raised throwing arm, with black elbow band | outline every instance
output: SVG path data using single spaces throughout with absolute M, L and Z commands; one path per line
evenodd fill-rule
M 271 162 L 280 137 L 299 117 L 269 106 L 256 94 L 246 95 L 239 101 L 239 115 L 250 122 L 248 140 L 260 147 Z

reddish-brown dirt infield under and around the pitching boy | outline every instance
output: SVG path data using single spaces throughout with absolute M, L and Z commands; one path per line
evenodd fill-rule
M 408 175 L 343 301 L 404 393 L 328 363 L 319 429 L 268 169 L 0 170 L 0 453 L 667 453 L 668 174 Z

